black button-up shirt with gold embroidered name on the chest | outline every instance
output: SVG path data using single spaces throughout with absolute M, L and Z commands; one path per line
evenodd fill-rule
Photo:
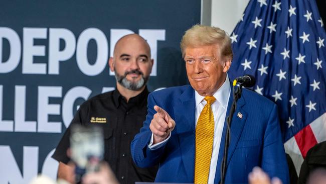
M 147 96 L 148 90 L 145 88 L 127 103 L 119 91 L 114 90 L 86 101 L 79 108 L 52 157 L 66 164 L 69 162 L 66 151 L 70 147 L 71 125 L 101 126 L 104 130 L 104 160 L 110 164 L 119 182 L 154 181 L 157 167 L 137 167 L 130 153 L 130 143 L 146 118 Z M 100 123 L 97 123 L 97 119 L 101 120 Z

